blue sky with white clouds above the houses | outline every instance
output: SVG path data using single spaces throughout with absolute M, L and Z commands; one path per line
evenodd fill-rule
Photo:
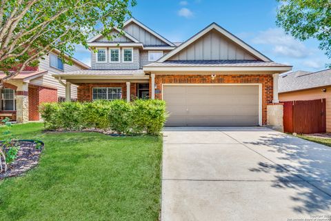
M 170 41 L 185 41 L 218 23 L 270 59 L 293 70 L 321 70 L 330 63 L 314 39 L 297 41 L 275 24 L 276 0 L 137 0 L 132 15 Z M 90 52 L 77 47 L 74 57 L 90 64 Z

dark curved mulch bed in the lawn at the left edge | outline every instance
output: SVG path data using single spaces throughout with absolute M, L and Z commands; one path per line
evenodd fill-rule
M 0 180 L 21 175 L 38 164 L 41 151 L 43 151 L 43 143 L 20 140 L 17 142 L 20 146 L 17 158 L 8 165 L 6 173 L 0 173 Z

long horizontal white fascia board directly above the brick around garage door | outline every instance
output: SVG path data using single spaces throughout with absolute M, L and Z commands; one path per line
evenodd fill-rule
M 144 66 L 143 71 L 288 71 L 292 67 L 153 67 Z

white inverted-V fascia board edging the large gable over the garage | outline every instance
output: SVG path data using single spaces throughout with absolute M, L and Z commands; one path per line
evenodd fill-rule
M 238 37 L 235 37 L 234 35 L 232 35 L 227 30 L 221 28 L 221 26 L 217 25 L 216 23 L 212 23 L 207 28 L 205 28 L 205 29 L 201 30 L 200 32 L 198 32 L 197 35 L 194 35 L 193 37 L 191 37 L 190 39 L 185 41 L 183 44 L 178 46 L 176 49 L 172 50 L 167 55 L 161 57 L 161 59 L 159 59 L 157 62 L 166 61 L 167 59 L 169 59 L 173 55 L 176 55 L 178 52 L 180 52 L 181 50 L 183 50 L 184 48 L 186 48 L 187 46 L 192 44 L 194 41 L 196 41 L 197 39 L 199 39 L 200 37 L 202 37 L 203 35 L 205 35 L 207 32 L 209 32 L 212 29 L 215 29 L 215 30 L 219 31 L 222 35 L 225 35 L 225 37 L 228 37 L 229 39 L 234 41 L 236 44 L 239 44 L 239 46 L 245 48 L 245 50 L 248 50 L 249 52 L 252 53 L 252 55 L 258 57 L 262 61 L 271 61 L 268 57 L 265 57 L 260 52 L 258 52 L 254 48 L 250 47 L 248 44 L 245 44 L 245 42 L 241 41 Z

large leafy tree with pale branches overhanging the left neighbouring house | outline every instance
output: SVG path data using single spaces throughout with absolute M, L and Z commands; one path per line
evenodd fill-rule
M 0 88 L 52 50 L 64 58 L 77 44 L 87 48 L 91 35 L 111 38 L 112 28 L 123 26 L 135 4 L 135 0 L 0 0 L 0 71 L 7 74 Z

